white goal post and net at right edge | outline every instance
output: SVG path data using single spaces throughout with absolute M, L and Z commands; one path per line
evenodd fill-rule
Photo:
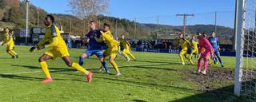
M 237 0 L 234 94 L 256 101 L 256 0 Z

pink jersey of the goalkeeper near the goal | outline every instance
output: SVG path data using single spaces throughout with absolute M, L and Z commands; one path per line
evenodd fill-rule
M 213 47 L 210 45 L 210 42 L 205 37 L 199 39 L 200 53 L 202 53 L 202 48 L 206 49 L 206 51 L 208 52 L 214 52 Z

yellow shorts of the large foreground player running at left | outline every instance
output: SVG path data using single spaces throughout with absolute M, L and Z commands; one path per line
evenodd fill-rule
M 47 51 L 45 54 L 49 55 L 50 57 L 53 57 L 53 60 L 57 57 L 70 56 L 70 53 L 68 52 L 67 49 L 61 49 L 61 50 L 51 49 L 51 50 Z

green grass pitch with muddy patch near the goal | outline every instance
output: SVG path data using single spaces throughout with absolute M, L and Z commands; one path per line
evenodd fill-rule
M 207 76 L 196 75 L 196 65 L 181 65 L 178 54 L 138 53 L 138 61 L 116 62 L 122 76 L 98 72 L 96 57 L 85 59 L 83 67 L 94 73 L 90 84 L 82 73 L 74 73 L 61 58 L 47 61 L 54 82 L 42 84 L 44 77 L 38 57 L 47 49 L 30 53 L 29 46 L 16 46 L 18 59 L 12 59 L 0 47 L 0 102 L 216 102 L 239 101 L 233 96 L 234 57 L 222 57 L 225 68 L 210 65 Z M 74 62 L 84 49 L 71 49 Z M 195 62 L 197 63 L 197 62 Z M 110 66 L 109 63 L 107 63 Z M 110 69 L 114 73 L 114 69 Z

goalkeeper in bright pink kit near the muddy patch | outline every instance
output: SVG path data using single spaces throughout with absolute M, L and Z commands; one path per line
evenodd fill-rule
M 214 57 L 214 49 L 210 45 L 210 42 L 203 37 L 203 35 L 198 36 L 199 40 L 199 52 L 201 53 L 201 57 L 198 59 L 198 73 L 202 73 L 206 75 L 206 70 L 208 67 L 208 59 L 210 57 Z M 202 50 L 205 49 L 204 52 Z M 204 61 L 203 68 L 204 70 L 201 72 L 202 59 Z

